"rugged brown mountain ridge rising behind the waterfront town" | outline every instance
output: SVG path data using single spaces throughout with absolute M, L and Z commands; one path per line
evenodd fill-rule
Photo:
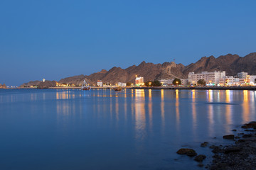
M 112 67 L 109 71 L 102 69 L 86 75 L 78 75 L 60 79 L 60 83 L 65 84 L 82 84 L 85 79 L 89 84 L 97 84 L 97 80 L 104 83 L 116 84 L 117 82 L 134 82 L 135 76 L 144 77 L 144 81 L 152 81 L 154 79 L 187 79 L 189 72 L 214 72 L 226 71 L 227 75 L 235 76 L 238 72 L 248 72 L 248 74 L 256 74 L 256 52 L 252 52 L 245 57 L 239 55 L 221 55 L 220 57 L 201 57 L 196 63 L 188 66 L 176 64 L 174 62 L 164 62 L 163 64 L 153 64 L 151 62 L 142 62 L 138 66 L 133 65 L 127 69 L 120 67 Z M 22 86 L 22 85 L 21 85 Z

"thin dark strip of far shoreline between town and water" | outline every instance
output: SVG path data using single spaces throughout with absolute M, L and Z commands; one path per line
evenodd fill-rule
M 37 89 L 37 88 L 29 88 L 29 87 L 18 87 L 18 88 L 5 88 L 5 89 Z M 80 87 L 49 87 L 46 89 L 81 89 Z M 111 89 L 111 87 L 92 87 L 92 89 Z M 196 87 L 184 87 L 184 86 L 176 86 L 176 87 L 163 87 L 163 86 L 155 86 L 155 87 L 123 87 L 123 89 L 170 89 L 170 90 L 250 90 L 256 91 L 256 86 L 196 86 Z

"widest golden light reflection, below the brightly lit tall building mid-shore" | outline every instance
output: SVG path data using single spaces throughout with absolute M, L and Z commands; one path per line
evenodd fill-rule
M 135 90 L 135 129 L 137 140 L 144 140 L 146 135 L 145 98 L 144 89 Z

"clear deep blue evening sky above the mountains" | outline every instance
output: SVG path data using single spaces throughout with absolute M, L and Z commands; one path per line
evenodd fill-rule
M 0 1 L 0 84 L 256 52 L 256 1 Z

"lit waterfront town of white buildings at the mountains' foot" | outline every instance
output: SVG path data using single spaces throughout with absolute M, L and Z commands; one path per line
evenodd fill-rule
M 82 84 L 66 84 L 59 81 L 33 81 L 34 84 L 29 86 L 21 86 L 23 88 L 73 88 L 80 87 Z M 47 86 L 43 86 L 47 84 Z M 226 76 L 225 71 L 215 72 L 201 72 L 201 73 L 188 73 L 188 79 L 157 79 L 151 81 L 144 81 L 144 77 L 135 76 L 134 82 L 117 82 L 110 84 L 102 80 L 97 80 L 97 84 L 90 84 L 93 87 L 110 88 L 112 86 L 120 87 L 145 87 L 145 86 L 256 86 L 256 75 L 249 75 L 247 72 L 238 72 L 235 76 Z M 0 84 L 0 88 L 6 88 L 5 85 Z

